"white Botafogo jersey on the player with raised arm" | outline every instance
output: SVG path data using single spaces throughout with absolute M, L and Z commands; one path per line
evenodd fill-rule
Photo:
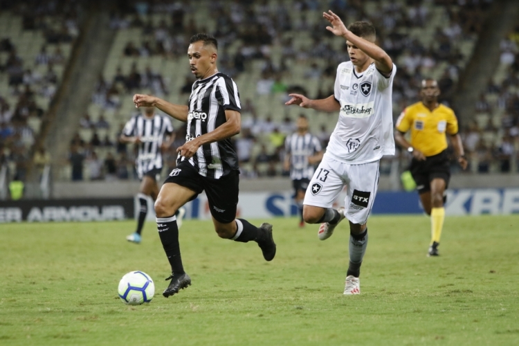
M 349 164 L 394 155 L 392 89 L 397 66 L 385 77 L 372 63 L 356 73 L 352 62 L 337 68 L 334 95 L 340 102 L 339 119 L 325 155 Z

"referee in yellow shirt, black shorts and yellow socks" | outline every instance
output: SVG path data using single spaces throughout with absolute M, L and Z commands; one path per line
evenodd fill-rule
M 437 256 L 441 228 L 444 226 L 444 191 L 450 179 L 447 138 L 450 136 L 457 161 L 463 169 L 467 161 L 462 138 L 458 134 L 454 111 L 438 103 L 439 88 L 436 80 L 421 82 L 421 102 L 403 110 L 397 120 L 394 139 L 412 154 L 410 172 L 417 183 L 421 204 L 430 215 L 431 241 L 428 255 Z M 404 138 L 410 131 L 410 142 Z

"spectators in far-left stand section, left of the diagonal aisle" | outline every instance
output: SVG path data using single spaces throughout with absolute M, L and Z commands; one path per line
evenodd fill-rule
M 50 162 L 46 150 L 33 152 L 33 145 L 59 83 L 55 66 L 66 64 L 60 44 L 78 36 L 76 6 L 73 1 L 0 1 L 0 12 L 21 19 L 21 33 L 44 37 L 37 41 L 42 42 L 37 55 L 22 58 L 21 42 L 12 39 L 21 35 L 17 28 L 0 33 L 0 83 L 6 84 L 0 88 L 0 167 L 8 168 L 10 179 L 26 180 L 31 159 L 40 171 Z

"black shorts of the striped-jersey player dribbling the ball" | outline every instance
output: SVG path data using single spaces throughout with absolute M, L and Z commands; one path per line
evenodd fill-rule
M 239 171 L 233 170 L 220 179 L 201 176 L 188 160 L 181 161 L 164 183 L 175 183 L 193 190 L 196 194 L 206 191 L 212 217 L 222 224 L 229 224 L 236 218 L 239 192 Z

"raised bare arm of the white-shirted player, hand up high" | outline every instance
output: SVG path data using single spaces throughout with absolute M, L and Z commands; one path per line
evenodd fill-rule
M 352 42 L 354 46 L 367 54 L 367 56 L 371 57 L 375 61 L 375 66 L 381 73 L 389 75 L 393 69 L 393 62 L 385 51 L 377 46 L 376 44 L 363 39 L 362 37 L 358 37 L 351 31 L 349 31 L 344 25 L 343 21 L 340 20 L 338 15 L 334 12 L 328 11 L 322 13 L 322 17 L 327 19 L 330 22 L 331 26 L 327 26 L 327 30 L 334 33 L 336 36 L 343 37 L 349 42 Z

